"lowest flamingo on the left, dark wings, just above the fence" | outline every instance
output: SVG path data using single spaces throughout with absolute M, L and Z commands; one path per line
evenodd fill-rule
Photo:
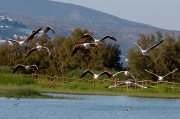
M 32 68 L 35 68 L 38 70 L 38 67 L 36 65 L 23 65 L 23 64 L 17 64 L 16 67 L 13 70 L 13 73 L 15 73 L 19 68 L 24 68 L 26 71 L 31 70 Z

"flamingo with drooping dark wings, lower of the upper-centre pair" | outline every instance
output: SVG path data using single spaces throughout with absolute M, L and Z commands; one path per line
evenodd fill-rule
M 83 43 L 83 44 L 75 45 L 72 50 L 71 57 L 73 57 L 74 54 L 77 53 L 77 51 L 80 50 L 81 48 L 90 49 L 92 47 L 97 47 L 99 49 L 99 46 L 97 43 Z

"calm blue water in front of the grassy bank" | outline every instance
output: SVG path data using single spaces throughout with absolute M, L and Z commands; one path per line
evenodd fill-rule
M 178 119 L 180 99 L 126 96 L 67 95 L 84 98 L 6 99 L 0 98 L 0 119 Z M 14 104 L 18 103 L 18 106 Z M 129 112 L 125 112 L 125 110 Z

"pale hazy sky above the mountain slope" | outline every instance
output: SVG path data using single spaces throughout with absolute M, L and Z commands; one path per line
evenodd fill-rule
M 84 6 L 122 19 L 180 30 L 180 0 L 54 0 Z

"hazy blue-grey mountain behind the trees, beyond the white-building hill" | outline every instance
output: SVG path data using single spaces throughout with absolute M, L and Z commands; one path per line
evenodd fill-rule
M 128 21 L 82 6 L 49 0 L 1 0 L 0 12 L 22 22 L 29 29 L 51 25 L 57 35 L 68 36 L 76 27 L 88 29 L 96 37 L 113 35 L 121 44 L 123 54 L 133 45 L 130 36 L 136 40 L 139 34 L 155 33 L 158 30 L 163 34 L 180 33 Z

